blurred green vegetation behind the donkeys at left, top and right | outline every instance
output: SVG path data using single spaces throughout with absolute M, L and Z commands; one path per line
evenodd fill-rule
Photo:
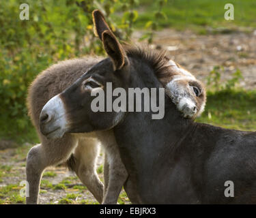
M 21 3 L 29 5 L 29 20 L 19 19 Z M 130 40 L 134 30 L 143 29 L 141 40 L 149 44 L 156 31 L 163 28 L 191 29 L 197 34 L 208 34 L 217 27 L 228 30 L 238 26 L 256 27 L 255 0 L 228 1 L 238 8 L 233 22 L 223 19 L 224 3 L 221 0 L 1 1 L 0 140 L 38 141 L 27 116 L 25 99 L 27 87 L 42 70 L 63 59 L 104 55 L 92 30 L 91 12 L 94 9 L 104 12 L 119 39 Z M 209 80 L 216 86 L 208 93 L 207 110 L 199 121 L 221 125 L 223 119 L 229 119 L 226 123 L 231 124 L 223 126 L 256 129 L 252 122 L 248 123 L 255 121 L 255 92 L 234 91 L 241 78 L 239 69 L 225 85 L 219 84 L 220 75 L 218 67 L 209 72 Z M 220 100 L 227 95 L 231 103 Z M 221 109 L 229 106 L 230 110 Z M 250 114 L 246 112 L 249 109 L 252 109 Z M 241 120 L 246 122 L 241 124 Z

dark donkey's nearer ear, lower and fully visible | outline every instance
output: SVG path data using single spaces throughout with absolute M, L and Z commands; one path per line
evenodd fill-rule
M 128 59 L 124 52 L 124 48 L 119 44 L 115 35 L 111 31 L 105 30 L 102 33 L 102 42 L 106 53 L 113 61 L 114 70 L 121 69 Z

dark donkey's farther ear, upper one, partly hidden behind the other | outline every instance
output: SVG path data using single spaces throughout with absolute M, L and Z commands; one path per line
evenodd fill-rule
M 105 30 L 111 31 L 109 25 L 106 23 L 104 16 L 100 10 L 94 10 L 92 12 L 92 18 L 94 20 L 94 34 L 102 41 L 102 33 Z

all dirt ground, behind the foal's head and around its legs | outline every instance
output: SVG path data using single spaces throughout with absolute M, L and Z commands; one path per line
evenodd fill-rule
M 140 35 L 141 32 L 134 33 L 135 38 Z M 213 67 L 219 65 L 225 70 L 221 81 L 228 80 L 236 69 L 240 69 L 244 77 L 240 86 L 244 89 L 256 87 L 256 31 L 196 35 L 191 31 L 164 29 L 158 32 L 152 47 L 165 48 L 171 59 L 203 82 L 206 82 Z M 20 181 L 25 181 L 26 155 L 31 146 L 26 144 L 18 149 L 0 150 L 1 204 L 24 203 L 24 198 L 14 197 L 22 188 L 19 186 Z M 102 168 L 102 162 L 103 155 L 98 159 L 98 168 Z M 102 179 L 102 170 L 98 172 Z M 68 172 L 63 166 L 49 168 L 42 179 L 44 182 L 41 185 L 40 204 L 96 204 L 94 196 L 83 187 L 75 174 Z M 11 184 L 13 186 L 8 189 L 9 193 L 4 191 L 5 187 Z M 124 193 L 119 203 L 129 203 Z

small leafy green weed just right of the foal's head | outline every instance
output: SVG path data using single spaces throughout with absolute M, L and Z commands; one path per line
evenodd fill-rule
M 207 84 L 210 89 L 214 89 L 214 91 L 229 91 L 236 89 L 238 82 L 243 78 L 240 69 L 236 69 L 236 72 L 232 74 L 232 78 L 225 83 L 222 83 L 221 74 L 224 74 L 224 68 L 221 66 L 214 66 L 214 69 L 212 69 L 207 78 Z

